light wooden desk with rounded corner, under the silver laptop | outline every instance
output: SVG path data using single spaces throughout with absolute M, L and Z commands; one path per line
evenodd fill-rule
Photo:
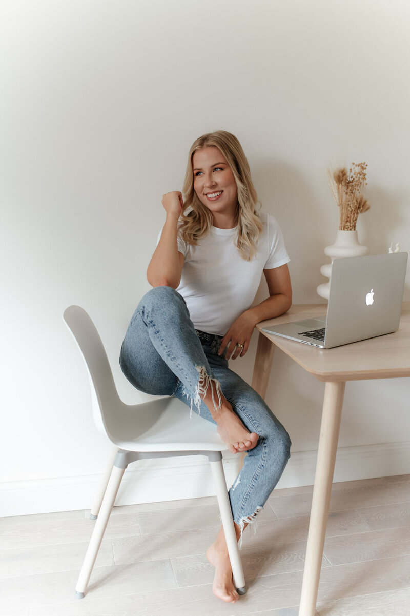
M 317 349 L 261 331 L 274 322 L 279 325 L 312 318 L 325 315 L 326 310 L 326 304 L 300 304 L 292 306 L 281 317 L 258 323 L 259 341 L 252 378 L 252 387 L 264 398 L 273 351 L 278 347 L 326 383 L 299 616 L 315 616 L 345 383 L 410 376 L 410 302 L 403 304 L 400 328 L 395 333 L 334 349 Z

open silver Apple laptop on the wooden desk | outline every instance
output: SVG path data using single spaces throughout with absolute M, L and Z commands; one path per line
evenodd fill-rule
M 328 314 L 262 331 L 331 349 L 398 330 L 408 253 L 334 259 Z

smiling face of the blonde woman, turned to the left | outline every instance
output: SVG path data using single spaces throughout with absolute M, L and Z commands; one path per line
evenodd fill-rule
M 235 221 L 238 190 L 232 169 L 219 148 L 209 145 L 196 150 L 192 157 L 193 186 L 199 201 L 218 222 Z

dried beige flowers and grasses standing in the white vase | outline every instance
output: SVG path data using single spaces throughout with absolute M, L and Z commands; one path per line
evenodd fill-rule
M 352 163 L 347 172 L 346 168 L 329 171 L 329 183 L 333 197 L 340 209 L 341 231 L 355 231 L 359 214 L 367 212 L 370 208 L 368 200 L 364 198 L 366 182 L 366 163 Z

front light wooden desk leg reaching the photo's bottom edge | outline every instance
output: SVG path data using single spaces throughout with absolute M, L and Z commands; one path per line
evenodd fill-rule
M 299 616 L 315 616 L 345 383 L 326 383 Z

